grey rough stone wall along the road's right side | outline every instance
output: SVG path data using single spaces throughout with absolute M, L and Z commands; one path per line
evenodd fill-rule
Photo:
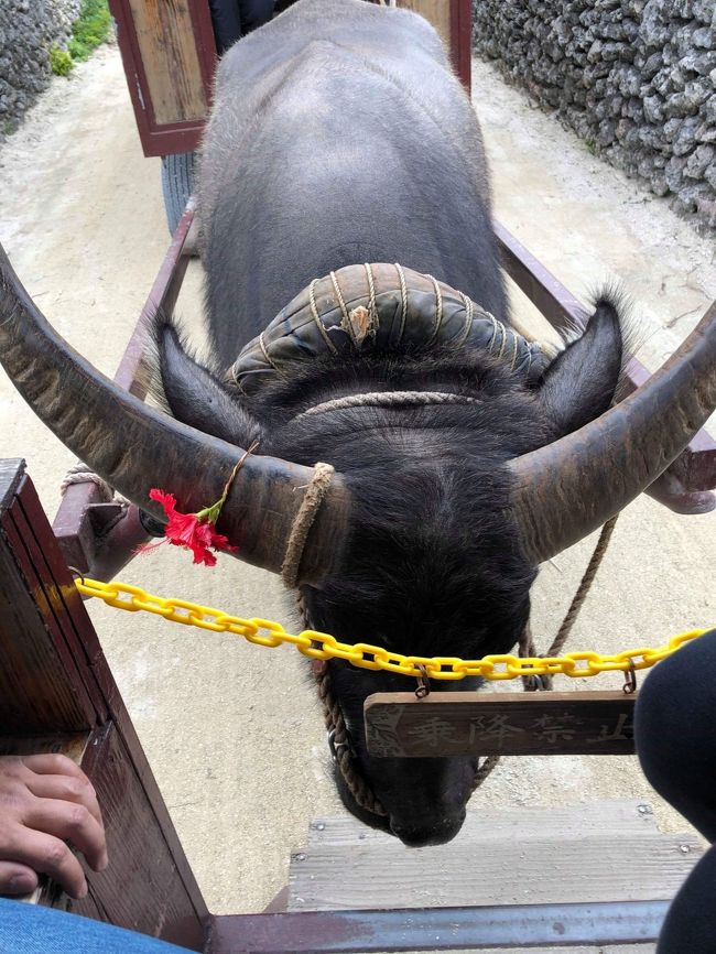
M 473 0 L 476 53 L 716 228 L 715 0 Z

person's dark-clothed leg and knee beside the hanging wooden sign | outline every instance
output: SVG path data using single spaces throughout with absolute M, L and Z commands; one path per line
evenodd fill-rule
M 637 701 L 634 731 L 653 788 L 716 842 L 716 630 L 649 674 Z M 658 954 L 716 954 L 716 845 L 671 906 Z

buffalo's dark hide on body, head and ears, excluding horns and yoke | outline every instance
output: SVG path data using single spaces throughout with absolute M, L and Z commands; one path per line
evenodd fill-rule
M 365 261 L 434 274 L 507 321 L 477 121 L 420 18 L 362 0 L 303 0 L 237 44 L 219 69 L 202 167 L 206 300 L 223 370 L 312 279 Z M 510 651 L 536 567 L 520 548 L 507 463 L 600 414 L 621 365 L 616 310 L 534 386 L 479 350 L 330 355 L 241 400 L 158 329 L 176 416 L 259 453 L 333 464 L 352 495 L 340 573 L 303 596 L 311 625 L 403 653 Z M 477 403 L 354 408 L 304 418 L 327 398 L 434 390 Z M 235 541 L 240 543 L 240 541 Z M 366 814 L 406 844 L 452 838 L 470 759 L 373 760 L 362 703 L 414 681 L 330 663 L 364 773 L 388 810 Z M 471 683 L 475 686 L 475 682 Z M 465 690 L 468 681 L 442 683 Z

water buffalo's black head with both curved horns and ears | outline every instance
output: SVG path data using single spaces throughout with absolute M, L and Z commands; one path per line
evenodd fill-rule
M 388 268 L 375 267 L 378 321 L 401 291 L 395 281 L 389 286 Z M 355 273 L 347 269 L 334 280 L 346 288 Z M 408 275 L 409 300 L 412 289 L 420 310 L 422 277 Z M 302 295 L 299 311 L 311 299 L 308 291 Z M 442 295 L 443 303 L 464 304 L 464 321 L 465 297 L 445 286 Z M 368 289 L 351 295 L 352 310 L 369 304 Z M 336 299 L 326 292 L 318 307 L 329 327 Z M 716 319 L 709 315 L 654 378 L 608 409 L 622 356 L 617 312 L 606 301 L 584 334 L 536 376 L 517 373 L 505 350 L 498 357 L 469 346 L 451 349 L 444 340 L 401 354 L 368 337 L 357 345 L 335 326 L 327 334 L 348 343 L 350 360 L 337 348 L 308 364 L 289 354 L 280 366 L 267 348 L 280 370 L 252 394 L 236 366 L 234 375 L 216 377 L 185 353 L 172 326 L 160 325 L 162 391 L 186 423 L 119 391 L 73 353 L 4 256 L 0 310 L 2 360 L 21 393 L 79 457 L 140 506 L 171 471 L 185 509 L 197 508 L 218 496 L 241 446 L 260 441 L 219 524 L 240 542 L 242 559 L 280 570 L 311 465 L 329 460 L 336 476 L 297 574 L 306 622 L 344 642 L 412 655 L 509 651 L 529 618 L 539 563 L 648 487 L 716 405 Z M 393 307 L 390 321 L 395 314 Z M 521 343 L 512 345 L 517 351 Z M 454 397 L 413 406 L 384 399 L 386 392 Z M 337 394 L 383 397 L 378 404 L 368 397 L 332 409 Z M 410 680 L 340 661 L 328 666 L 351 759 L 382 809 L 359 804 L 337 772 L 345 804 L 409 845 L 452 838 L 475 762 L 370 757 L 366 697 L 405 690 Z

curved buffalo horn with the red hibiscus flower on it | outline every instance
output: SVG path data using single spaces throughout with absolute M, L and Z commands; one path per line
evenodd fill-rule
M 57 335 L 30 299 L 0 246 L 0 360 L 37 416 L 77 456 L 138 506 L 163 517 L 152 487 L 195 512 L 221 495 L 240 447 L 155 411 L 119 388 Z M 310 467 L 250 456 L 239 470 L 218 530 L 237 555 L 281 570 Z M 348 491 L 339 475 L 318 511 L 299 581 L 316 583 L 334 568 L 345 534 Z

